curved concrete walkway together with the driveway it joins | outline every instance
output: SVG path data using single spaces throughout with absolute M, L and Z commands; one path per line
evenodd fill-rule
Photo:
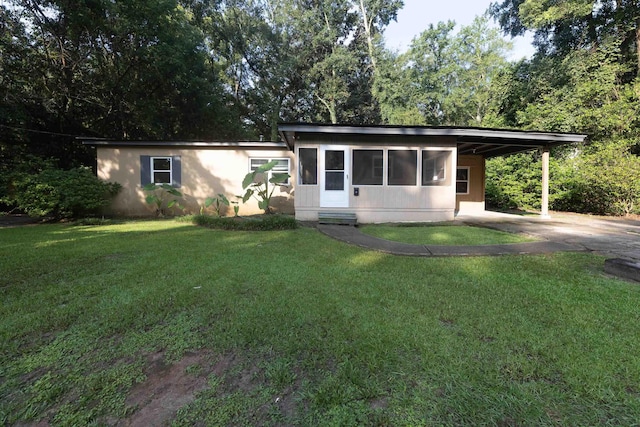
M 564 213 L 542 219 L 535 215 L 485 212 L 481 215 L 460 215 L 455 222 L 527 234 L 540 241 L 481 246 L 411 245 L 369 236 L 357 227 L 320 224 L 318 229 L 337 240 L 396 255 L 477 256 L 593 251 L 609 257 L 640 261 L 640 221 Z

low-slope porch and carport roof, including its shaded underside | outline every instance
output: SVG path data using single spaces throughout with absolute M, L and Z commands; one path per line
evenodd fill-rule
M 574 133 L 472 127 L 359 126 L 314 123 L 282 123 L 278 126 L 278 131 L 290 149 L 293 149 L 300 134 L 453 137 L 457 141 L 458 154 L 479 154 L 486 158 L 584 142 L 587 138 L 587 135 Z

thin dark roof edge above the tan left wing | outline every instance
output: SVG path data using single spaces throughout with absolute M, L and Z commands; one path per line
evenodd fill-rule
M 98 147 L 181 147 L 181 148 L 245 148 L 289 149 L 284 142 L 264 141 L 115 141 L 107 139 L 82 139 L 83 145 Z

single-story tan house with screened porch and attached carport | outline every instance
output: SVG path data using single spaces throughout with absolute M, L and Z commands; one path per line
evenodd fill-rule
M 122 185 L 112 211 L 153 212 L 142 187 L 171 183 L 187 211 L 207 197 L 242 194 L 244 176 L 268 161 L 291 178 L 274 193 L 277 211 L 300 220 L 355 214 L 359 222 L 448 221 L 485 208 L 485 160 L 540 150 L 542 215 L 548 215 L 549 152 L 586 135 L 465 127 L 284 123 L 281 142 L 85 140 L 95 146 L 98 176 Z M 241 215 L 259 213 L 256 202 Z

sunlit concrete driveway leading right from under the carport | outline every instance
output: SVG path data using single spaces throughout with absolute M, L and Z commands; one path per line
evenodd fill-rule
M 575 245 L 608 257 L 640 261 L 640 220 L 555 212 L 551 218 L 543 219 L 537 215 L 485 211 L 478 215 L 458 215 L 456 221 Z

